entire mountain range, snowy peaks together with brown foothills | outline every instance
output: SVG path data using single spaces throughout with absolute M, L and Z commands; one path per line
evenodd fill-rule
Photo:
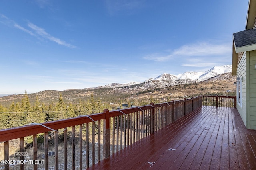
M 44 90 L 28 94 L 28 97 L 31 103 L 38 98 L 40 102 L 49 104 L 58 101 L 60 94 L 66 102 L 88 100 L 92 93 L 96 98 L 110 102 L 120 98 L 158 98 L 163 96 L 178 99 L 187 95 L 215 94 L 227 90 L 235 92 L 235 81 L 236 76 L 231 75 L 231 66 L 226 65 L 215 66 L 205 72 L 191 71 L 179 75 L 164 73 L 144 82 L 111 83 L 105 86 L 64 91 Z M 8 107 L 12 102 L 20 102 L 24 94 L 0 96 L 0 104 Z

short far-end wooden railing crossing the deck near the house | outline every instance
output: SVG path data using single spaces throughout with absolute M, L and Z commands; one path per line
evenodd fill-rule
M 202 105 L 236 108 L 236 96 L 202 96 Z

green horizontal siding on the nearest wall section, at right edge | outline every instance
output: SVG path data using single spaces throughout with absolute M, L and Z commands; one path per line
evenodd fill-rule
M 256 50 L 250 51 L 250 129 L 256 129 Z

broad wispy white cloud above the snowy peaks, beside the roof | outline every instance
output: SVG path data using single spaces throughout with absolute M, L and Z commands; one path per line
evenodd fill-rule
M 202 56 L 223 56 L 231 53 L 231 46 L 227 43 L 211 44 L 206 42 L 183 45 L 178 49 L 172 50 L 168 55 L 154 53 L 143 58 L 153 61 L 168 61 L 177 57 L 202 57 Z

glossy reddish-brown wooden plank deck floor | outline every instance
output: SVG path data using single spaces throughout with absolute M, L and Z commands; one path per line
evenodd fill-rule
M 202 106 L 88 169 L 256 170 L 256 131 L 234 108 Z

